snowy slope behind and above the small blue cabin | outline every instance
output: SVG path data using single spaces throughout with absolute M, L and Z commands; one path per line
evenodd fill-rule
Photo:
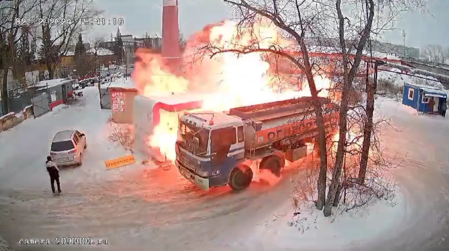
M 377 74 L 377 78 L 379 80 L 392 82 L 397 87 L 402 87 L 402 86 L 404 86 L 405 83 L 409 83 L 409 84 L 418 84 L 418 85 L 428 85 L 428 86 L 436 87 L 438 89 L 445 89 L 444 86 L 440 83 L 440 81 L 438 81 L 434 77 L 428 77 L 428 76 L 424 76 L 421 74 L 410 74 L 413 76 L 404 75 L 404 74 L 400 74 L 402 71 L 397 68 L 391 68 L 391 69 L 389 69 L 389 71 L 393 71 L 393 72 L 385 72 L 385 71 L 379 70 L 379 72 Z M 398 73 L 395 73 L 395 72 L 398 72 Z M 371 75 L 371 77 L 374 77 L 374 74 Z M 426 79 L 423 79 L 423 78 L 426 78 Z

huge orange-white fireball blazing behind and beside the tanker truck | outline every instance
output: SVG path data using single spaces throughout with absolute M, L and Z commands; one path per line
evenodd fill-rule
M 138 51 L 141 62 L 137 63 L 139 66 L 134 70 L 133 79 L 140 93 L 145 96 L 206 91 L 208 94 L 204 96 L 202 109 L 217 112 L 238 106 L 311 96 L 306 83 L 298 83 L 291 76 L 286 80 L 270 71 L 266 52 L 240 55 L 225 52 L 211 58 L 217 50 L 254 49 L 255 44 L 260 49 L 289 47 L 292 43 L 280 34 L 276 26 L 263 19 L 247 30 L 242 30 L 241 26 L 238 27 L 232 21 L 224 21 L 206 27 L 189 39 L 182 58 L 185 64 L 180 71 L 182 73 L 165 67 L 157 55 L 139 55 Z M 330 80 L 320 75 L 315 76 L 314 80 L 317 89 L 323 89 L 319 96 L 327 97 L 329 93 L 326 89 L 330 87 Z M 176 157 L 174 145 L 178 116 L 178 113 L 161 113 L 160 123 L 154 125 L 148 142 L 170 161 Z

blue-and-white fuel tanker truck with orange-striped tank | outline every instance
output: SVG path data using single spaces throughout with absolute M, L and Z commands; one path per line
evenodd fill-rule
M 338 126 L 338 114 L 328 98 L 320 98 L 320 104 L 326 135 L 330 135 Z M 254 162 L 259 170 L 279 177 L 286 160 L 306 157 L 306 143 L 313 143 L 317 136 L 310 97 L 226 113 L 190 113 L 180 117 L 175 164 L 180 174 L 203 190 L 229 184 L 239 191 L 250 185 Z

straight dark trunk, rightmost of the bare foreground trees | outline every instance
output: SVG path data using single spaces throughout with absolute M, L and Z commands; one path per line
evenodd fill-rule
M 365 182 L 366 167 L 371 146 L 371 132 L 373 131 L 374 96 L 377 89 L 377 63 L 374 66 L 374 83 L 366 85 L 366 121 L 363 125 L 363 143 L 360 157 L 359 182 Z

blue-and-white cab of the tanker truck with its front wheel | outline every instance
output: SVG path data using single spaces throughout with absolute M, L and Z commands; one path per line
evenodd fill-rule
M 213 112 L 189 114 L 180 118 L 176 167 L 180 174 L 201 189 L 208 190 L 209 187 L 230 183 L 231 173 L 236 172 L 235 167 L 244 158 L 242 119 Z M 244 189 L 251 183 L 252 172 L 234 179 L 233 183 Z

